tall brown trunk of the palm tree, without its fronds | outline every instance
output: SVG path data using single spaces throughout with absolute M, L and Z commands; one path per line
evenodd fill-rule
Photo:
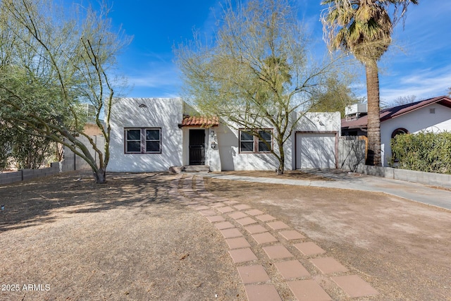
M 381 166 L 381 117 L 379 106 L 379 75 L 376 61 L 366 63 L 368 97 L 368 157 L 366 164 Z

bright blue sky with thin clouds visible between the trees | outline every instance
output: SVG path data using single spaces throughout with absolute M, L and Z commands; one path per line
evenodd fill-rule
M 192 39 L 192 29 L 211 32 L 223 0 L 110 0 L 111 18 L 122 25 L 132 43 L 119 56 L 119 68 L 132 90 L 128 97 L 177 97 L 180 75 L 173 63 L 173 45 Z M 311 30 L 315 49 L 326 53 L 322 40 L 320 0 L 297 0 L 299 18 Z M 381 100 L 415 95 L 416 100 L 447 93 L 451 87 L 451 3 L 420 0 L 409 6 L 404 25 L 380 62 Z M 321 54 L 322 56 L 322 54 Z M 364 68 L 355 85 L 366 95 Z

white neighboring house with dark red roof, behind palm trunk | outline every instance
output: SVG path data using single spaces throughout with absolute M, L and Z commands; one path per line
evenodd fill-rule
M 354 105 L 355 106 L 355 105 Z M 361 108 L 354 107 L 354 118 L 342 119 L 342 135 L 365 135 L 368 116 Z M 355 113 L 355 114 L 354 114 Z M 395 135 L 430 131 L 451 131 L 451 98 L 447 96 L 424 99 L 412 104 L 381 110 L 381 152 L 383 166 L 388 166 L 392 152 L 390 142 Z

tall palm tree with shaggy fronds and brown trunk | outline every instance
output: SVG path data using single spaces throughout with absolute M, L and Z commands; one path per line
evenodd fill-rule
M 381 166 L 378 61 L 392 41 L 393 27 L 419 0 L 324 0 L 323 32 L 330 50 L 349 51 L 364 64 L 368 99 L 367 164 Z M 391 13 L 391 16 L 390 16 Z

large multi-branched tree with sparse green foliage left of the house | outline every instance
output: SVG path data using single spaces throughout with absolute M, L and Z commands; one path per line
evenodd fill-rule
M 130 39 L 113 32 L 106 6 L 99 12 L 73 8 L 49 0 L 1 1 L 0 118 L 27 135 L 65 145 L 91 166 L 97 183 L 105 183 L 110 110 L 120 87 L 112 72 L 116 54 Z M 83 103 L 96 110 L 104 149 L 83 130 Z

